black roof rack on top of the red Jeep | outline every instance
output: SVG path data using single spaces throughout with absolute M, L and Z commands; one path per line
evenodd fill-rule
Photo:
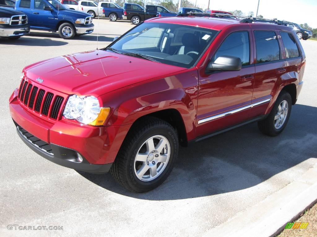
M 240 22 L 241 23 L 253 23 L 253 22 L 264 22 L 264 23 L 271 23 L 277 25 L 287 25 L 287 22 L 274 19 L 266 19 L 261 17 L 253 17 L 253 16 L 242 16 L 242 15 L 229 15 L 229 14 L 219 14 L 219 13 L 205 13 L 205 12 L 188 12 L 188 13 L 180 13 L 176 16 L 211 16 L 211 17 L 224 17 L 224 16 L 234 16 L 243 18 Z

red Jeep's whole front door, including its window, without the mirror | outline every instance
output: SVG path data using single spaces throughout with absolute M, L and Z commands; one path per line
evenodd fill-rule
M 239 57 L 239 71 L 201 73 L 197 106 L 196 136 L 223 129 L 249 119 L 255 67 L 250 62 L 250 30 L 229 33 L 211 58 Z

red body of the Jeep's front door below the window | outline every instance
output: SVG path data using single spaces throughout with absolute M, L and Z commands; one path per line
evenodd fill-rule
M 250 108 L 235 112 L 232 115 L 221 115 L 220 118 L 210 118 L 225 112 L 251 104 L 253 92 L 253 65 L 236 72 L 220 72 L 199 78 L 199 93 L 197 107 L 196 135 L 206 133 L 243 122 L 249 118 Z M 250 76 L 249 76 L 250 75 Z M 248 80 L 243 77 L 247 76 Z M 212 120 L 203 122 L 203 119 Z

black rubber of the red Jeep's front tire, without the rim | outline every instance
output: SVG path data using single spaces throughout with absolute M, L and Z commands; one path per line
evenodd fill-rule
M 135 173 L 138 161 L 135 163 L 134 160 L 139 150 L 142 149 L 142 144 L 144 144 L 149 138 L 153 136 L 163 136 L 167 139 L 170 145 L 170 157 L 167 161 L 165 168 L 158 175 L 158 177 L 150 181 L 143 181 L 139 179 Z M 154 146 L 156 146 L 155 143 Z M 126 138 L 124 139 L 121 145 L 121 148 L 110 169 L 110 172 L 113 178 L 120 185 L 122 185 L 129 191 L 147 192 L 158 187 L 165 181 L 165 179 L 168 177 L 168 175 L 171 173 L 174 167 L 177 155 L 177 131 L 164 120 L 146 116 L 144 118 L 139 119 L 131 127 L 130 131 L 126 135 Z M 144 162 L 143 164 L 146 165 L 147 163 L 149 165 L 150 162 Z M 155 166 L 159 166 L 159 162 L 155 164 Z M 148 170 L 147 172 L 149 171 L 150 170 Z

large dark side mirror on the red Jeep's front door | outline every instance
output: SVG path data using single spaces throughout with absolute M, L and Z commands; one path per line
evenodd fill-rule
M 234 56 L 220 56 L 215 62 L 210 62 L 207 71 L 239 71 L 241 70 L 241 59 Z

